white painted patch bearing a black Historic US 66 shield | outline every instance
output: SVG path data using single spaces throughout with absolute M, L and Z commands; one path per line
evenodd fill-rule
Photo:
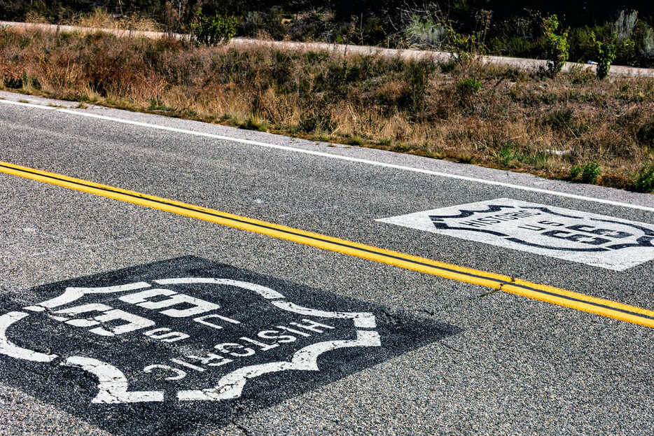
M 499 198 L 377 221 L 623 271 L 654 259 L 654 225 Z

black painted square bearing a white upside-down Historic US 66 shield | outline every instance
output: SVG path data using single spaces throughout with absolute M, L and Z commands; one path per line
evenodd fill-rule
M 0 378 L 114 433 L 195 434 L 459 330 L 185 257 L 0 311 Z

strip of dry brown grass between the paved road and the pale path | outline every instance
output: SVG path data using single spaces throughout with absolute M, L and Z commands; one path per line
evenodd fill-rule
M 0 30 L 0 84 L 21 92 L 564 178 L 598 162 L 632 187 L 654 157 L 654 79 L 552 79 L 503 66 L 197 48 Z

